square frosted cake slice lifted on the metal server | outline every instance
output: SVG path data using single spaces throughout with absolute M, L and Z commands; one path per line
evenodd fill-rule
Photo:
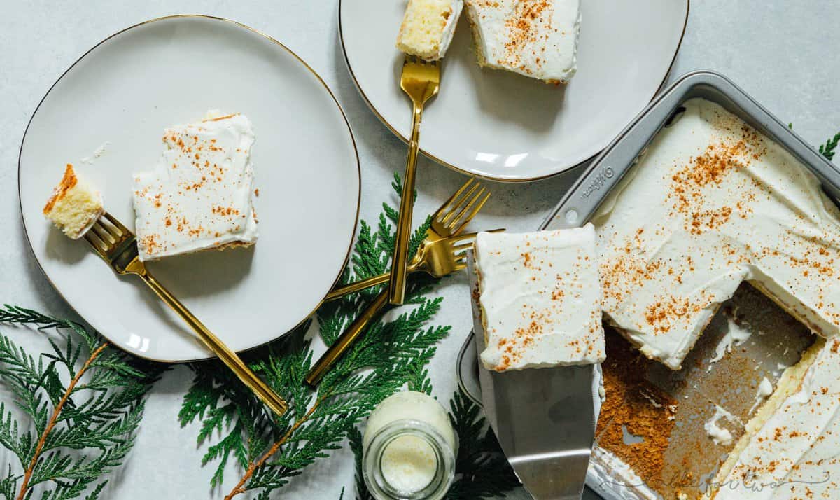
M 475 270 L 488 370 L 605 359 L 595 229 L 480 233 Z

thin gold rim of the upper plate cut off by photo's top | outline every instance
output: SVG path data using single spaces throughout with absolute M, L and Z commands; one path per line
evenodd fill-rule
M 398 137 L 400 140 L 402 140 L 402 142 L 408 144 L 408 139 L 404 135 L 400 134 L 396 130 L 396 128 L 393 125 L 391 125 L 388 122 L 388 120 L 386 120 L 385 117 L 381 115 L 381 113 L 379 113 L 379 110 L 377 110 L 374 107 L 373 103 L 370 102 L 370 99 L 367 97 L 367 94 L 365 94 L 365 91 L 362 90 L 362 87 L 360 86 L 359 81 L 356 80 L 356 75 L 353 72 L 353 66 L 350 66 L 350 60 L 349 60 L 349 57 L 347 56 L 347 49 L 344 46 L 344 29 L 342 29 L 342 27 L 341 27 L 341 12 L 342 12 L 341 5 L 342 5 L 342 1 L 343 0 L 339 0 L 339 40 L 341 41 L 341 53 L 344 55 L 344 64 L 345 64 L 345 66 L 347 66 L 347 71 L 350 74 L 350 79 L 353 80 L 353 84 L 356 87 L 356 90 L 359 91 L 359 95 L 362 97 L 362 100 L 365 101 L 368 108 L 370 108 L 370 111 L 372 111 L 375 114 L 376 118 L 379 118 L 379 120 L 382 122 L 382 124 L 384 124 L 389 130 L 391 130 L 392 134 L 396 135 L 396 137 Z M 674 62 L 677 59 L 677 55 L 680 53 L 680 47 L 682 46 L 682 41 L 685 38 L 685 29 L 688 28 L 688 15 L 689 15 L 690 10 L 691 10 L 691 0 L 685 0 L 685 19 L 683 19 L 683 29 L 682 29 L 682 32 L 680 33 L 680 41 L 677 42 L 676 49 L 674 50 L 674 55 L 671 57 L 671 61 L 668 65 L 668 70 L 666 70 L 664 76 L 662 76 L 662 82 L 659 82 L 659 87 L 656 87 L 656 91 L 654 92 L 654 95 L 652 95 L 650 97 L 650 100 L 648 101 L 648 103 L 654 101 L 654 98 L 659 94 L 659 92 L 665 86 L 665 82 L 668 81 L 668 76 L 670 75 L 671 70 L 674 69 Z M 612 141 L 612 139 L 611 139 L 611 141 Z M 607 143 L 607 145 L 608 144 L 609 143 Z M 606 146 L 604 146 L 604 147 L 606 148 Z M 595 158 L 597 155 L 599 155 L 602 150 L 603 150 L 603 148 L 601 148 L 601 150 L 597 151 L 594 155 L 591 155 L 589 158 L 586 158 L 584 161 L 580 161 L 579 163 L 576 163 L 575 165 L 564 168 L 561 171 L 556 171 L 553 174 L 548 174 L 548 175 L 545 175 L 545 176 L 527 177 L 527 178 L 522 178 L 522 179 L 500 179 L 498 177 L 486 176 L 486 175 L 483 175 L 483 174 L 479 174 L 479 173 L 476 173 L 476 172 L 465 170 L 463 168 L 460 168 L 459 166 L 454 166 L 453 164 L 451 164 L 447 161 L 443 161 L 440 158 L 438 158 L 437 156 L 432 155 L 427 150 L 424 150 L 423 147 L 420 148 L 420 152 L 423 153 L 423 156 L 426 156 L 430 160 L 437 161 L 440 165 L 443 165 L 443 166 L 445 166 L 445 167 L 447 167 L 451 170 L 460 172 L 460 173 L 464 174 L 465 176 L 475 176 L 475 177 L 479 177 L 480 179 L 486 179 L 487 181 L 493 181 L 493 182 L 511 182 L 511 183 L 541 181 L 543 179 L 548 179 L 549 177 L 557 176 L 557 175 L 559 175 L 563 172 L 573 170 L 573 169 L 585 164 L 587 161 L 591 161 L 593 158 Z

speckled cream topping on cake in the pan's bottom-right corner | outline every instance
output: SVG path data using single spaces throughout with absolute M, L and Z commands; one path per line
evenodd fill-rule
M 829 339 L 798 390 L 752 433 L 714 498 L 836 498 L 840 488 L 840 339 Z

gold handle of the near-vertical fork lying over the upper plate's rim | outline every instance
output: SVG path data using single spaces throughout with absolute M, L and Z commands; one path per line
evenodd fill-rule
M 402 304 L 406 299 L 406 267 L 408 244 L 412 231 L 412 208 L 414 206 L 414 174 L 417 171 L 417 152 L 420 150 L 420 119 L 423 118 L 423 103 L 413 102 L 412 139 L 408 143 L 406 172 L 402 176 L 402 197 L 400 215 L 396 219 L 396 244 L 391 257 L 391 281 L 388 286 L 388 302 Z

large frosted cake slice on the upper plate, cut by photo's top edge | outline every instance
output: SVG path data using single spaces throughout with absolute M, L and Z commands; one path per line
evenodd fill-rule
M 566 83 L 577 71 L 580 0 L 465 0 L 480 66 Z

